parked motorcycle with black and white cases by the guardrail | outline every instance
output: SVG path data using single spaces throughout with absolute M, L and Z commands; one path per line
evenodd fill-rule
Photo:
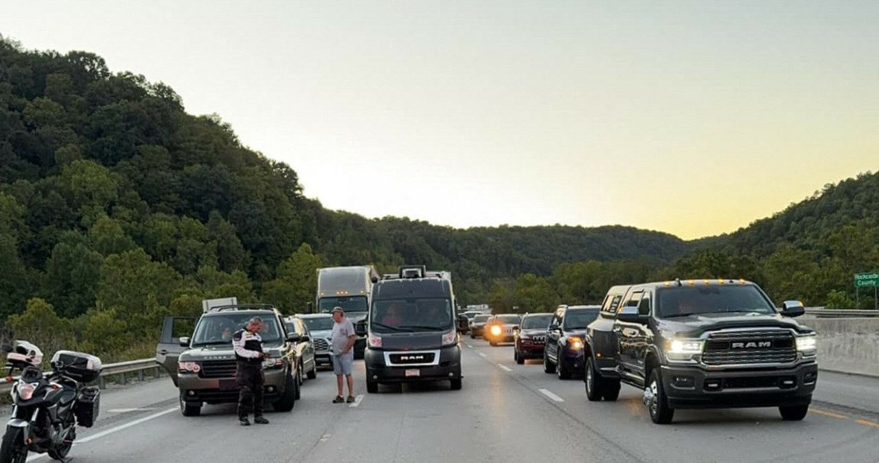
M 12 384 L 12 416 L 0 444 L 0 463 L 25 463 L 28 452 L 46 453 L 66 461 L 76 426 L 91 428 L 98 417 L 100 390 L 88 386 L 98 379 L 101 360 L 90 354 L 57 351 L 52 372 L 40 367 L 40 348 L 26 341 L 3 345 L 8 377 L 21 376 Z

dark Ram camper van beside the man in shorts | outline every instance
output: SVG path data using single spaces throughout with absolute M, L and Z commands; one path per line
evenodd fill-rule
M 367 392 L 377 393 L 380 384 L 436 380 L 461 389 L 458 332 L 467 318 L 455 317 L 454 307 L 447 271 L 403 266 L 377 282 L 369 316 L 357 324 L 367 335 Z

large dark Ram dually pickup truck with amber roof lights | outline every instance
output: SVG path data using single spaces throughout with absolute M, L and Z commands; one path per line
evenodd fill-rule
M 815 331 L 791 319 L 803 313 L 745 280 L 614 286 L 586 331 L 586 395 L 614 401 L 621 382 L 637 387 L 654 423 L 675 409 L 745 407 L 802 420 L 818 374 Z

